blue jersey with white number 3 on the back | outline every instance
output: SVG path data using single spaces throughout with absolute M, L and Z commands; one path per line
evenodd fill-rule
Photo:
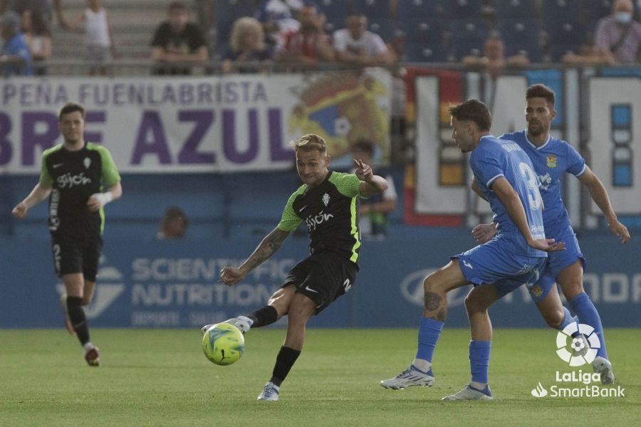
M 543 204 L 538 191 L 540 183 L 532 162 L 523 149 L 514 142 L 487 135 L 481 138 L 479 146 L 471 152 L 469 164 L 474 172 L 474 181 L 494 212 L 493 221 L 498 224 L 499 231 L 495 238 L 504 241 L 509 251 L 517 255 L 546 257 L 544 251 L 528 246 L 499 198 L 491 191 L 494 181 L 504 177 L 521 199 L 533 238 L 545 238 Z

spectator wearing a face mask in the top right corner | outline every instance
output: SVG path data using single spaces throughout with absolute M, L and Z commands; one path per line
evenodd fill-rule
M 641 23 L 633 19 L 631 0 L 616 0 L 612 14 L 599 19 L 595 33 L 597 59 L 605 63 L 635 63 L 641 45 Z

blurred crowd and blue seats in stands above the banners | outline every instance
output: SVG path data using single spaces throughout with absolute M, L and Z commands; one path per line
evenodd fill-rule
M 134 0 L 135 1 L 135 0 Z M 83 58 L 118 58 L 101 0 L 71 19 L 65 0 L 0 0 L 1 73 L 43 74 L 51 28 L 82 33 Z M 290 70 L 321 63 L 390 66 L 462 63 L 498 75 L 530 63 L 637 63 L 639 6 L 632 0 L 175 0 L 149 34 L 154 73 Z M 115 7 L 115 6 L 114 6 Z M 197 14 L 192 12 L 196 11 Z M 16 16 L 18 17 L 16 23 Z M 213 36 L 212 36 L 213 34 Z M 26 46 L 26 48 L 25 48 Z M 26 49 L 26 50 L 25 50 Z M 55 56 L 54 56 L 55 57 Z M 172 65 L 173 64 L 173 65 Z M 91 73 L 105 73 L 91 68 Z

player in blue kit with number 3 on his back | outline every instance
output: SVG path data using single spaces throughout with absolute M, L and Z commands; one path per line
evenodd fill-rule
M 475 289 L 493 285 L 499 295 L 506 295 L 540 273 L 546 252 L 563 249 L 562 242 L 545 238 L 539 182 L 523 149 L 490 134 L 491 115 L 479 100 L 451 107 L 449 113 L 452 137 L 463 152 L 471 152 L 474 179 L 490 202 L 499 233 L 488 243 L 453 256 L 425 278 L 417 354 L 409 368 L 380 382 L 389 389 L 434 383 L 432 354 L 447 316 L 447 292 L 471 283 Z M 469 321 L 471 381 L 444 397 L 445 401 L 492 399 L 488 385 L 491 322 L 487 312 Z

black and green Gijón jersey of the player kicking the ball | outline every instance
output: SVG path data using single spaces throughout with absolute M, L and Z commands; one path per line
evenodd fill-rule
M 357 263 L 359 187 L 360 180 L 355 174 L 331 171 L 316 187 L 303 184 L 289 197 L 278 228 L 293 231 L 305 221 L 311 253 L 334 251 Z

